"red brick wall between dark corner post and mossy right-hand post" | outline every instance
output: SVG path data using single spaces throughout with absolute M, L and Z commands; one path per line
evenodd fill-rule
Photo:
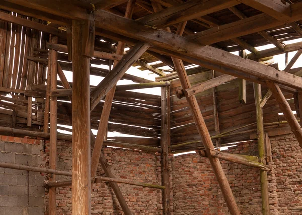
M 257 155 L 257 143 L 239 143 L 225 152 Z M 199 154 L 173 157 L 174 214 L 229 214 L 208 158 Z M 261 213 L 259 171 L 222 161 L 241 214 Z

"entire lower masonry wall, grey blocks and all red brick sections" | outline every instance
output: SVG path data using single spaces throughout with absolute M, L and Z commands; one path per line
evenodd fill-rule
M 49 142 L 0 136 L 0 162 L 49 166 Z M 271 137 L 273 162 L 268 172 L 271 214 L 302 214 L 302 150 L 292 134 Z M 42 150 L 42 151 L 41 151 Z M 161 184 L 161 155 L 135 150 L 104 148 L 112 173 L 118 178 Z M 257 155 L 255 141 L 238 143 L 226 152 Z M 57 168 L 71 171 L 72 145 L 58 142 Z M 171 209 L 173 214 L 229 214 L 207 158 L 198 154 L 170 157 Z M 259 170 L 222 161 L 241 214 L 261 214 Z M 99 166 L 98 175 L 105 176 Z M 48 214 L 48 175 L 0 168 L 0 214 Z M 70 179 L 57 176 L 57 180 Z M 162 214 L 162 191 L 119 184 L 133 214 Z M 44 197 L 44 193 L 46 194 Z M 57 189 L 57 214 L 72 214 L 72 190 Z M 92 184 L 92 214 L 122 214 L 110 183 Z

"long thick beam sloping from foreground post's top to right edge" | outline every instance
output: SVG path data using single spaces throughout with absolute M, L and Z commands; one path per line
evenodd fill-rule
M 124 35 L 123 38 L 131 37 L 136 40 L 148 42 L 157 46 L 157 49 L 155 50 L 160 53 L 178 57 L 187 62 L 195 63 L 215 71 L 220 71 L 246 80 L 251 80 L 253 82 L 255 81 L 264 84 L 264 82 L 259 80 L 260 78 L 263 80 L 276 81 L 295 89 L 301 89 L 302 84 L 297 84 L 297 82 L 302 81 L 300 77 L 292 76 L 286 72 L 277 71 L 272 67 L 261 65 L 258 62 L 241 59 L 239 56 L 235 56 L 210 46 L 202 46 L 197 43 L 190 42 L 186 38 L 169 32 L 148 29 L 143 24 L 133 20 L 124 19 L 105 11 L 98 12 L 99 13 L 95 15 L 97 16 L 97 20 L 103 19 L 105 21 L 102 22 L 103 29 L 122 34 Z M 108 22 L 110 20 L 110 25 L 107 24 L 106 20 Z M 133 31 L 128 31 L 129 28 L 133 29 Z M 133 33 L 134 31 L 135 33 Z M 121 38 L 121 40 L 123 39 Z M 175 43 L 178 45 L 175 46 Z M 240 73 L 237 71 L 240 71 Z M 276 74 L 278 74 L 278 78 L 276 78 Z

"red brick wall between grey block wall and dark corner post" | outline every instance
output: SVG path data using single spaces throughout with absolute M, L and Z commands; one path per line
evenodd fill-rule
M 48 160 L 48 141 L 45 142 L 45 151 L 45 160 Z M 116 148 L 104 148 L 103 154 L 108 162 L 109 168 L 117 178 L 161 184 L 161 161 L 159 154 Z M 58 169 L 71 171 L 72 146 L 70 142 L 58 142 L 57 160 Z M 47 165 L 48 163 L 46 163 L 46 166 Z M 98 167 L 97 175 L 106 176 L 100 165 Z M 64 179 L 68 179 L 68 177 L 57 177 L 57 180 Z M 118 185 L 121 188 L 125 200 L 133 214 L 162 214 L 162 191 L 160 189 L 120 183 Z M 71 196 L 71 186 L 57 188 L 58 214 L 71 214 Z M 46 193 L 45 214 L 48 214 L 47 198 L 48 196 Z M 98 183 L 92 184 L 91 199 L 92 214 L 123 214 L 118 200 L 110 186 L 110 183 L 108 182 L 98 181 Z

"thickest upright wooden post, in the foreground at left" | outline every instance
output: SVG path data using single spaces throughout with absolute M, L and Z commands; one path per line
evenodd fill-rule
M 90 214 L 89 57 L 85 53 L 85 21 L 72 21 L 72 214 Z M 92 47 L 94 48 L 94 47 Z

